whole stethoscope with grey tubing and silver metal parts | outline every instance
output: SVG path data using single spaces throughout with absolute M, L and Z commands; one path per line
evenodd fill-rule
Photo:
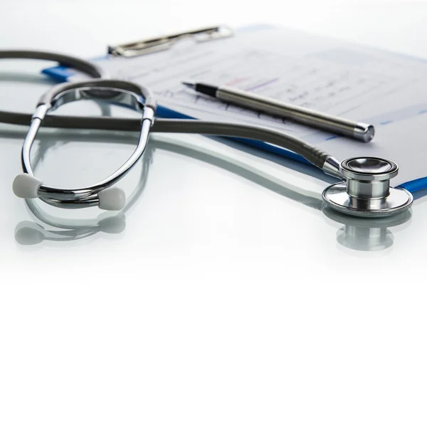
M 0 58 L 56 60 L 93 77 L 93 80 L 54 86 L 41 97 L 32 117 L 15 112 L 0 112 L 0 122 L 28 124 L 31 121 L 22 149 L 21 162 L 24 173 L 16 176 L 14 181 L 14 192 L 19 197 L 40 198 L 48 204 L 63 208 L 99 206 L 106 210 L 122 209 L 125 206 L 124 193 L 113 185 L 130 172 L 130 169 L 142 157 L 151 131 L 261 139 L 268 144 L 300 154 L 325 173 L 343 180 L 343 182 L 328 186 L 323 191 L 322 198 L 332 209 L 344 214 L 364 217 L 391 216 L 406 211 L 413 202 L 413 196 L 408 191 L 390 186 L 390 179 L 396 176 L 398 168 L 394 162 L 389 160 L 376 157 L 357 157 L 339 163 L 337 159 L 317 147 L 283 132 L 263 127 L 199 120 L 156 119 L 154 123 L 156 103 L 149 90 L 135 83 L 102 79 L 102 70 L 85 60 L 36 51 L 0 51 Z M 67 102 L 85 99 L 106 100 L 118 105 L 133 107 L 142 112 L 142 120 L 47 115 L 47 112 Z M 51 127 L 139 129 L 139 142 L 125 164 L 102 181 L 78 189 L 59 189 L 46 186 L 36 179 L 31 167 L 31 146 L 42 122 Z

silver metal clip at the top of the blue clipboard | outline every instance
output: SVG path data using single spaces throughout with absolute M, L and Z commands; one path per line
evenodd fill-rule
M 132 43 L 108 46 L 108 54 L 111 56 L 132 58 L 134 56 L 147 55 L 148 53 L 166 51 L 184 38 L 192 38 L 196 43 L 204 43 L 206 41 L 218 40 L 220 38 L 227 38 L 233 35 L 233 29 L 228 26 L 221 25 L 199 28 L 193 31 L 186 31 L 184 33 L 170 34 L 169 36 L 147 38 L 145 40 L 134 41 Z

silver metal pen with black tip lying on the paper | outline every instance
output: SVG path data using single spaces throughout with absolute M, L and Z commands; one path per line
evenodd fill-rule
M 298 107 L 272 98 L 257 95 L 246 90 L 231 88 L 229 86 L 214 86 L 206 83 L 182 82 L 187 88 L 204 93 L 218 100 L 240 105 L 250 110 L 266 112 L 270 115 L 284 117 L 302 125 L 317 127 L 335 134 L 344 135 L 359 141 L 369 142 L 374 137 L 375 129 L 367 123 L 353 122 L 342 117 L 325 114 L 310 108 Z

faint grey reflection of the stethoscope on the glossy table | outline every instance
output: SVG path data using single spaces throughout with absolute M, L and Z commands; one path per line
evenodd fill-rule
M 44 133 L 44 132 L 43 132 Z M 113 135 L 114 134 L 114 135 Z M 0 132 L 1 136 L 21 138 L 24 132 L 15 130 L 5 130 Z M 45 157 L 46 152 L 58 144 L 66 144 L 67 142 L 75 142 L 79 139 L 87 140 L 88 133 L 60 130 L 56 132 L 46 132 L 43 135 L 43 143 L 39 144 L 38 152 L 33 160 L 33 164 L 41 162 Z M 117 132 L 101 132 L 99 135 L 91 133 L 91 142 L 105 142 L 108 139 L 115 137 L 117 141 Z M 221 139 L 223 140 L 223 139 Z M 135 136 L 132 133 L 127 134 L 120 132 L 120 141 L 127 144 L 135 144 Z M 226 144 L 230 145 L 229 140 Z M 241 148 L 241 144 L 236 143 Z M 126 227 L 126 214 L 132 206 L 135 205 L 139 196 L 143 193 L 145 184 L 147 183 L 147 176 L 154 152 L 157 149 L 166 150 L 181 154 L 192 159 L 197 159 L 201 162 L 214 165 L 224 169 L 245 179 L 253 181 L 255 184 L 263 186 L 265 189 L 274 191 L 287 199 L 297 201 L 300 204 L 309 206 L 317 211 L 322 211 L 327 218 L 327 222 L 332 226 L 337 226 L 337 223 L 342 224 L 337 231 L 337 241 L 345 248 L 351 248 L 356 251 L 382 251 L 389 248 L 394 243 L 394 235 L 389 228 L 399 226 L 407 223 L 411 219 L 411 211 L 406 211 L 400 215 L 392 216 L 390 218 L 356 218 L 339 214 L 327 208 L 321 199 L 320 194 L 311 191 L 305 191 L 301 188 L 285 184 L 283 181 L 278 182 L 274 176 L 269 176 L 263 172 L 251 167 L 240 160 L 231 159 L 218 152 L 212 152 L 209 149 L 201 147 L 185 146 L 176 142 L 167 142 L 155 135 L 150 137 L 149 144 L 147 145 L 146 152 L 142 157 L 142 169 L 139 176 L 138 184 L 135 190 L 127 199 L 127 204 L 122 211 L 118 214 L 111 214 L 105 212 L 91 220 L 78 220 L 60 218 L 48 214 L 41 209 L 38 201 L 31 199 L 26 201 L 29 211 L 38 220 L 35 221 L 22 221 L 16 226 L 15 238 L 16 242 L 21 245 L 36 245 L 43 241 L 75 241 L 78 239 L 88 238 L 95 236 L 97 233 L 105 235 L 118 235 L 125 230 Z M 276 159 L 281 164 L 295 162 L 288 159 Z M 303 166 L 307 167 L 307 166 Z M 319 179 L 325 180 L 322 172 L 317 174 L 314 168 L 307 167 L 310 174 Z M 43 224 L 43 225 L 42 225 Z M 46 229 L 46 226 L 52 229 Z

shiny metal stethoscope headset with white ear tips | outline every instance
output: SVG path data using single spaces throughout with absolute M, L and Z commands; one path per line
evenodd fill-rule
M 137 147 L 119 169 L 96 184 L 75 189 L 47 186 L 34 176 L 31 167 L 31 147 L 38 129 L 49 111 L 68 102 L 88 99 L 109 100 L 141 111 L 142 119 L 139 121 L 140 132 Z M 109 211 L 122 209 L 125 206 L 125 193 L 112 186 L 130 172 L 130 169 L 144 153 L 155 108 L 154 97 L 149 90 L 123 80 L 93 79 L 53 87 L 41 97 L 36 112 L 31 118 L 31 125 L 21 151 L 23 174 L 16 176 L 14 180 L 14 193 L 23 199 L 40 198 L 47 204 L 63 208 L 99 206 L 100 209 Z

